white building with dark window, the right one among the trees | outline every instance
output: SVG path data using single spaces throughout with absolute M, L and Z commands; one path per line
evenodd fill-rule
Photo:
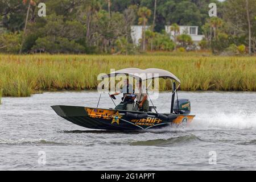
M 198 26 L 179 26 L 180 31 L 176 32 L 176 36 L 180 34 L 188 34 L 191 36 L 193 43 L 198 44 L 204 35 L 198 35 Z M 171 26 L 166 26 L 166 32 L 171 35 L 171 39 L 174 40 L 174 31 L 171 31 Z

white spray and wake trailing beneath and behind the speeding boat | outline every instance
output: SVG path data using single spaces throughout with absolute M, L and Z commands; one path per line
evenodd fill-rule
M 255 130 L 255 114 L 197 114 L 191 123 L 179 126 L 167 126 L 162 129 L 148 129 L 141 131 L 108 131 L 108 130 L 66 130 L 61 133 L 92 133 L 92 134 L 112 134 L 112 133 L 187 133 L 193 130 Z

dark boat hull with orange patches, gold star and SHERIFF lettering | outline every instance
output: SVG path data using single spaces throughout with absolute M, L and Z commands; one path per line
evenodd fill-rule
M 145 130 L 171 123 L 191 122 L 193 115 L 143 113 L 139 111 L 100 109 L 81 106 L 51 106 L 64 119 L 89 129 Z

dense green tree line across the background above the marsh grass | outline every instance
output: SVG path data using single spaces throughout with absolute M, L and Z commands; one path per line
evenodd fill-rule
M 46 17 L 37 15 L 46 4 Z M 209 3 L 217 17 L 208 15 Z M 142 26 L 138 46 L 131 26 Z M 174 32 L 164 31 L 171 25 Z M 199 26 L 199 46 L 213 53 L 256 51 L 256 0 L 0 0 L 2 53 L 189 51 L 198 46 L 179 25 Z M 150 26 L 150 28 L 146 28 Z

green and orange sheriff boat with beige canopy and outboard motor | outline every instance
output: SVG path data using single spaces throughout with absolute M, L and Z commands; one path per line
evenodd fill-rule
M 148 86 L 146 88 L 146 93 L 152 106 L 150 106 L 150 109 L 147 112 L 140 111 L 138 107 L 136 107 L 135 102 L 127 104 L 125 109 L 120 107 L 120 105 L 123 104 L 122 102 L 119 105 L 115 105 L 114 108 L 98 108 L 97 104 L 96 107 L 55 105 L 51 106 L 52 109 L 57 115 L 76 125 L 99 130 L 148 130 L 159 129 L 170 125 L 187 125 L 192 122 L 195 115 L 190 114 L 191 103 L 188 99 L 179 99 L 177 97 L 177 89 L 180 86 L 180 80 L 171 72 L 156 68 L 126 68 L 109 73 L 102 78 L 115 77 L 118 74 L 123 74 L 143 81 L 149 79 L 152 81 L 156 78 L 171 79 L 172 91 L 170 113 L 158 113 L 149 97 L 147 90 Z M 176 86 L 177 84 L 179 85 Z M 111 95 L 109 94 L 109 96 Z M 127 94 L 127 97 L 129 97 L 129 94 Z M 100 102 L 100 98 L 98 103 Z M 113 97 L 110 98 L 113 101 Z M 115 104 L 114 101 L 113 103 Z

